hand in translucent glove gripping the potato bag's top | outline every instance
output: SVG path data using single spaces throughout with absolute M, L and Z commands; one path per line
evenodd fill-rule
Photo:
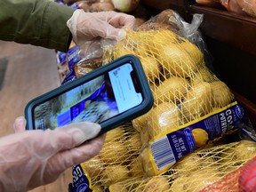
M 76 44 L 96 37 L 119 40 L 125 36 L 120 28 L 133 28 L 135 18 L 123 12 L 84 12 L 76 10 L 67 22 Z

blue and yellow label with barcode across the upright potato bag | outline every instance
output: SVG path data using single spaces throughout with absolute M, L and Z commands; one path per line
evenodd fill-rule
M 150 142 L 152 163 L 156 173 L 164 172 L 175 164 L 182 156 L 186 156 L 196 149 L 196 140 L 192 131 L 202 129 L 208 133 L 209 140 L 220 138 L 225 132 L 235 130 L 246 121 L 244 109 L 236 102 L 228 105 L 197 122 L 183 124 L 180 129 L 166 135 L 159 135 Z

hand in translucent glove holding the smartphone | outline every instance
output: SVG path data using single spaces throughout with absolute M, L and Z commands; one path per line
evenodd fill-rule
M 0 191 L 28 191 L 56 180 L 61 172 L 96 156 L 105 135 L 100 124 L 69 124 L 53 131 L 26 131 L 24 117 L 14 134 L 0 139 Z M 90 140 L 86 141 L 85 140 Z M 84 143 L 83 145 L 81 145 Z

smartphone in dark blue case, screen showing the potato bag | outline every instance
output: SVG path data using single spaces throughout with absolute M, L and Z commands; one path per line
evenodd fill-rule
M 154 103 L 140 60 L 125 55 L 107 65 L 30 100 L 27 130 L 55 129 L 90 121 L 108 132 L 141 116 Z

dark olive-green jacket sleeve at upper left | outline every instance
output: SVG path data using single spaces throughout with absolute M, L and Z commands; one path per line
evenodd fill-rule
M 74 11 L 51 0 L 0 0 L 0 39 L 66 52 Z

